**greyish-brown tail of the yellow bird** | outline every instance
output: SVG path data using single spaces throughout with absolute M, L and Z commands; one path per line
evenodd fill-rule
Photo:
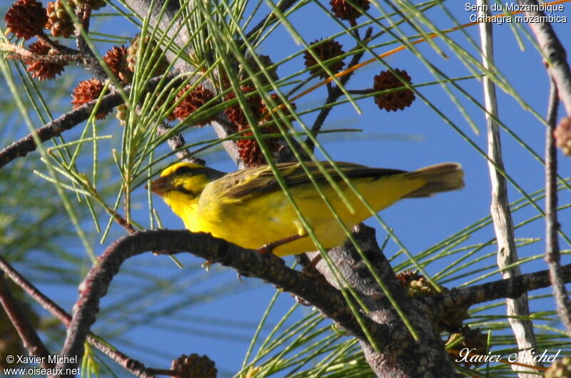
M 434 193 L 464 188 L 464 171 L 458 163 L 440 163 L 405 173 L 408 178 L 421 178 L 425 185 L 408 193 L 404 198 L 429 197 Z

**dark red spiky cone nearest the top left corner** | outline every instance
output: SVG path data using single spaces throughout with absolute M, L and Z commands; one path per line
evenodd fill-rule
M 31 39 L 41 33 L 48 21 L 44 5 L 36 0 L 17 0 L 4 16 L 6 31 L 18 38 Z

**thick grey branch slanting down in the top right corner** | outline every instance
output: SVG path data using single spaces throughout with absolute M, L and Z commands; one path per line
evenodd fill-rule
M 539 8 L 539 1 L 537 0 L 517 0 L 517 3 L 531 6 L 530 9 Z M 525 15 L 532 17 L 532 19 L 545 17 L 545 14 L 539 10 L 526 11 Z M 534 21 L 530 22 L 529 26 L 542 49 L 543 57 L 548 60 L 549 73 L 557 85 L 559 99 L 565 106 L 567 116 L 571 116 L 571 70 L 569 63 L 567 63 L 565 48 L 563 48 L 550 23 Z

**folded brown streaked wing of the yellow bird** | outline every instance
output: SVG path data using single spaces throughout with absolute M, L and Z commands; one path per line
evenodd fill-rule
M 341 180 L 339 173 L 330 163 L 322 162 L 321 164 L 323 165 L 323 170 L 333 180 Z M 335 164 L 348 178 L 380 178 L 405 172 L 395 169 L 369 168 L 365 165 L 352 163 L 337 162 Z M 323 182 L 326 180 L 324 173 L 315 163 L 306 162 L 305 165 L 316 181 Z M 310 179 L 300 163 L 280 163 L 277 167 L 288 188 L 310 183 Z M 246 200 L 274 190 L 281 190 L 281 188 L 268 165 L 238 170 L 216 181 L 218 194 L 221 195 L 223 193 L 224 198 L 233 198 L 235 200 Z

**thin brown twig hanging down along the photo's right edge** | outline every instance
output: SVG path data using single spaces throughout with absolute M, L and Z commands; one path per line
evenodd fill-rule
M 553 294 L 557 303 L 559 317 L 571 335 L 571 301 L 562 280 L 560 250 L 557 233 L 557 150 L 553 131 L 557 126 L 557 85 L 551 78 L 549 108 L 547 111 L 547 132 L 545 138 L 545 261 L 549 267 Z

